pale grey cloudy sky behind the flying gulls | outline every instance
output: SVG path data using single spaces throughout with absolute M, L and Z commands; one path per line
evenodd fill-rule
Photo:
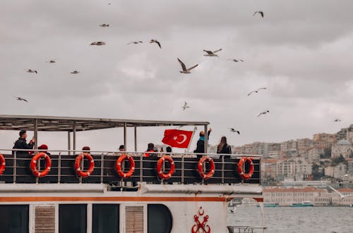
M 241 145 L 337 132 L 353 123 L 352 8 L 323 0 L 0 1 L 1 114 L 208 121 L 210 144 L 222 135 Z M 127 45 L 135 40 L 144 43 Z M 96 41 L 107 44 L 90 46 Z M 203 56 L 221 48 L 219 58 Z M 198 67 L 179 73 L 177 57 Z M 268 89 L 247 96 L 259 87 Z M 160 143 L 163 131 L 140 130 L 140 149 Z M 116 149 L 121 132 L 80 134 L 78 146 Z M 1 147 L 17 134 L 1 132 Z M 55 142 L 42 135 L 52 148 L 66 143 L 66 134 Z

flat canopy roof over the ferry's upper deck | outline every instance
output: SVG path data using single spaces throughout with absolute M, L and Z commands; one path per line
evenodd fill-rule
M 115 127 L 208 125 L 210 122 L 71 118 L 42 115 L 0 115 L 0 130 L 66 131 L 102 130 Z

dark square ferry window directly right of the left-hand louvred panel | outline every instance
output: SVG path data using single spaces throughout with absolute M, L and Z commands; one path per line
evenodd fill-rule
M 59 205 L 59 233 L 85 233 L 87 229 L 87 205 Z

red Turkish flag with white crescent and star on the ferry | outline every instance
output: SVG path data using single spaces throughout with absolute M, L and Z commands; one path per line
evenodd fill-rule
M 165 130 L 162 142 L 172 147 L 188 148 L 193 131 Z

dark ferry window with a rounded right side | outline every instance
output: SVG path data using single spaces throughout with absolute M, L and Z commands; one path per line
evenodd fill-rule
M 167 206 L 148 205 L 148 233 L 170 233 L 172 226 L 173 218 Z

